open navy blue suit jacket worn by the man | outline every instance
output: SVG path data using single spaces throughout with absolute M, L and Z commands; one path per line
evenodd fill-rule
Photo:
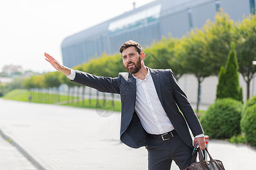
M 188 126 L 194 136 L 203 134 L 204 131 L 187 96 L 177 84 L 174 73 L 172 73 L 171 69 L 150 69 L 150 72 L 160 103 L 177 134 L 189 147 L 193 148 Z M 76 77 L 73 82 L 96 88 L 96 90 L 101 92 L 120 94 L 122 103 L 121 141 L 133 148 L 147 146 L 147 133 L 143 129 L 139 117 L 134 110 L 136 80 L 130 73 L 119 73 L 117 78 L 109 78 L 76 70 Z

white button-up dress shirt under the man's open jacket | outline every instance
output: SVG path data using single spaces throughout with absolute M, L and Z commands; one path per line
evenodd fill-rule
M 147 133 L 164 134 L 174 130 L 174 126 L 172 126 L 160 103 L 150 70 L 147 70 L 144 80 L 133 75 L 136 79 L 137 88 L 135 111 L 138 113 L 139 120 L 141 120 L 141 124 Z

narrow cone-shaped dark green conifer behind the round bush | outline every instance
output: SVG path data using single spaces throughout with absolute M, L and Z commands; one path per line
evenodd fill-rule
M 232 46 L 232 49 L 226 61 L 226 68 L 221 67 L 220 70 L 216 99 L 231 97 L 242 102 L 242 87 L 240 87 L 239 83 L 238 63 L 234 42 L 232 42 L 230 46 Z

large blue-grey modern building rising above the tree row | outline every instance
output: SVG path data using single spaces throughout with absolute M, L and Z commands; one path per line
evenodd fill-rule
M 61 45 L 63 63 L 73 67 L 103 52 L 118 53 L 127 40 L 144 48 L 162 36 L 181 37 L 214 20 L 220 7 L 233 20 L 242 20 L 255 13 L 255 5 L 255 0 L 157 0 L 67 37 Z

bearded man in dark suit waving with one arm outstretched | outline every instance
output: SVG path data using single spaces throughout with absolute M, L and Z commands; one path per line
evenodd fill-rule
M 73 82 L 120 94 L 121 141 L 133 148 L 147 148 L 148 169 L 170 169 L 172 160 L 185 169 L 191 163 L 193 145 L 205 148 L 203 128 L 187 96 L 171 69 L 155 70 L 144 65 L 145 54 L 138 42 L 123 43 L 119 52 L 128 73 L 119 73 L 117 78 L 72 70 L 49 54 L 44 56 Z

